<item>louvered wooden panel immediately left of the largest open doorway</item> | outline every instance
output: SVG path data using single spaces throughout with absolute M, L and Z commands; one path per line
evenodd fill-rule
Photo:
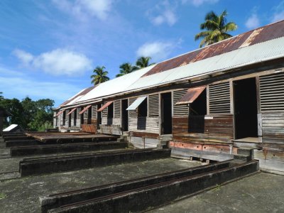
M 230 84 L 209 85 L 209 113 L 230 113 Z

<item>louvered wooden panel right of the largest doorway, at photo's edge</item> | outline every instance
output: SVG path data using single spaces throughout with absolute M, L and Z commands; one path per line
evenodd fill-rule
M 284 73 L 259 77 L 261 111 L 284 111 Z

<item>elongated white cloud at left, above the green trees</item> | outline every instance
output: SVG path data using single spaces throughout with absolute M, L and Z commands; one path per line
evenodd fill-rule
M 65 49 L 56 49 L 38 56 L 23 50 L 13 51 L 16 57 L 37 70 L 51 75 L 78 75 L 92 68 L 92 62 L 85 55 Z

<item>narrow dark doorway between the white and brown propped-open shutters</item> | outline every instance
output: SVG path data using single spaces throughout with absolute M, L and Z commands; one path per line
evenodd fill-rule
M 172 133 L 172 94 L 170 92 L 163 93 L 161 97 L 161 118 L 162 118 L 162 134 Z

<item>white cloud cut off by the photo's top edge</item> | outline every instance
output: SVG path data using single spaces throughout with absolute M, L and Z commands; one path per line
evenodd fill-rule
M 113 0 L 53 0 L 56 6 L 62 11 L 72 13 L 73 15 L 82 18 L 82 16 L 88 15 L 96 16 L 97 18 L 104 20 L 107 18 Z

